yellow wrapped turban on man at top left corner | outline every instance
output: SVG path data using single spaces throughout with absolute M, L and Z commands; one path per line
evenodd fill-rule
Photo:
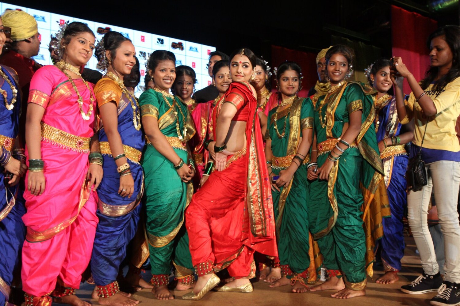
M 11 28 L 11 40 L 25 40 L 38 33 L 35 18 L 25 11 L 7 10 L 1 15 L 3 25 Z

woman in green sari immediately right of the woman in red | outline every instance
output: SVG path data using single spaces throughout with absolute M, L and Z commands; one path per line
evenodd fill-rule
M 307 163 L 314 115 L 311 102 L 297 96 L 300 75 L 301 68 L 295 62 L 283 62 L 278 67 L 281 102 L 270 110 L 265 134 L 282 276 L 270 287 L 291 284 L 296 293 L 307 291 L 310 276 Z

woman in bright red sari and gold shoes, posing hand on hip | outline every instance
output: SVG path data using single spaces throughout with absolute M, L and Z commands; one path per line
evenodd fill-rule
M 252 292 L 254 251 L 276 256 L 270 181 L 257 115 L 256 91 L 248 83 L 256 57 L 249 49 L 230 56 L 233 82 L 213 108 L 214 171 L 186 210 L 190 253 L 198 281 L 184 300 L 199 300 L 228 269 L 235 280 L 219 292 Z

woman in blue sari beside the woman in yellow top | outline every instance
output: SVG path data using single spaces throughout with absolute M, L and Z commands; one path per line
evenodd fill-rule
M 390 60 L 379 59 L 366 69 L 374 94 L 375 131 L 380 158 L 385 171 L 385 186 L 390 202 L 391 217 L 383 219 L 385 235 L 379 240 L 380 255 L 385 274 L 376 283 L 397 282 L 404 255 L 403 214 L 407 207 L 406 179 L 408 163 L 405 144 L 414 137 L 413 123 L 401 125 L 397 117 L 395 96 L 388 95 L 391 88 Z

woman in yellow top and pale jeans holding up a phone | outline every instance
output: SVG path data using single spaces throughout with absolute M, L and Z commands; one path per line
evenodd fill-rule
M 393 81 L 398 118 L 414 120 L 414 141 L 409 156 L 421 154 L 428 175 L 426 186 L 408 192 L 408 221 L 420 252 L 423 273 L 401 290 L 408 294 L 437 291 L 431 305 L 460 304 L 460 225 L 457 198 L 460 185 L 460 145 L 455 123 L 460 113 L 460 27 L 447 25 L 430 34 L 427 45 L 431 65 L 420 83 L 401 57 L 393 58 Z M 412 93 L 403 99 L 403 79 Z M 423 144 L 422 144 L 423 142 Z M 421 151 L 420 151 L 421 150 Z M 433 241 L 428 230 L 431 193 L 444 236 L 444 279 L 439 273 Z

